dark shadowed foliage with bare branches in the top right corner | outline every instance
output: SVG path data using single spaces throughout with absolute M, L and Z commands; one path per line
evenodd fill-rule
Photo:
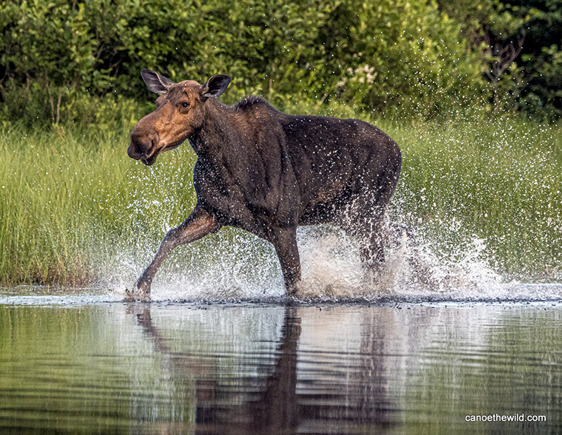
M 438 1 L 481 54 L 496 112 L 562 117 L 561 0 Z

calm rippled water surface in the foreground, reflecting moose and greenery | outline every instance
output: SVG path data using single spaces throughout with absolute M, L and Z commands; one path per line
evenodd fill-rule
M 559 301 L 108 299 L 4 292 L 1 433 L 562 430 Z

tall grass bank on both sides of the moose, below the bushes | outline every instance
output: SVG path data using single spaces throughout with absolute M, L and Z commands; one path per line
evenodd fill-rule
M 562 128 L 377 125 L 403 150 L 393 219 L 443 259 L 482 240 L 482 259 L 506 277 L 562 280 Z M 190 147 L 148 168 L 127 157 L 128 142 L 127 129 L 0 133 L 2 285 L 87 285 L 124 250 L 142 266 L 188 216 Z

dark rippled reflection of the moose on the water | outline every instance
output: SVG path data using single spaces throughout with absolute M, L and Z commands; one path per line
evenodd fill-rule
M 199 353 L 177 353 L 169 339 L 152 320 L 150 305 L 129 306 L 136 322 L 157 353 L 169 356 L 166 361 L 172 376 L 190 375 L 187 397 L 195 401 L 195 433 L 198 434 L 296 434 L 310 422 L 325 421 L 346 428 L 367 425 L 387 427 L 393 424 L 396 406 L 388 401 L 379 348 L 384 337 L 376 331 L 363 336 L 360 367 L 350 373 L 348 384 L 332 384 L 327 391 L 314 391 L 299 385 L 298 344 L 302 331 L 299 307 L 285 307 L 280 338 L 263 363 L 256 356 L 256 371 L 224 378 L 216 370 L 218 360 L 226 356 L 202 357 Z M 240 358 L 244 358 L 241 355 Z M 322 400 L 318 399 L 322 397 Z M 317 428 L 318 429 L 318 428 Z

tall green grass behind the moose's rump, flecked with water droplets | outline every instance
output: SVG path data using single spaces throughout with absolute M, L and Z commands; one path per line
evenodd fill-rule
M 504 278 L 562 279 L 560 126 L 502 119 L 388 131 L 404 155 L 395 214 L 436 253 L 459 261 L 479 244 Z

